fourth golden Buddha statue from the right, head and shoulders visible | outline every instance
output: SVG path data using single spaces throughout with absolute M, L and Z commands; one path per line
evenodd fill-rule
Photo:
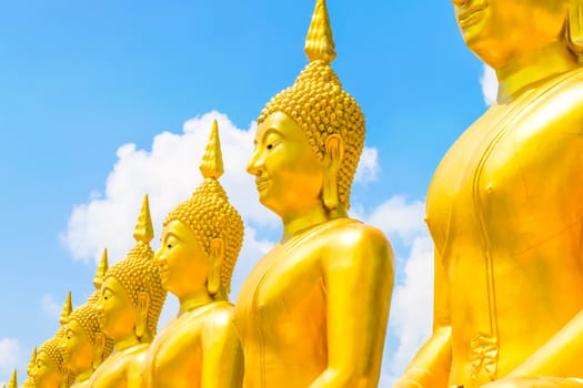
M 135 246 L 112 265 L 101 284 L 97 303 L 101 331 L 113 340 L 113 354 L 97 368 L 89 380 L 92 388 L 133 388 L 142 386 L 142 361 L 155 335 L 165 290 L 153 265 L 152 221 L 148 196 L 133 236 Z

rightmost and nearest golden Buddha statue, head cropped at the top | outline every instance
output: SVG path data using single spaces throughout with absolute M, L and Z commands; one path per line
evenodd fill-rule
M 433 335 L 396 387 L 583 386 L 583 1 L 453 3 L 500 89 L 431 182 Z

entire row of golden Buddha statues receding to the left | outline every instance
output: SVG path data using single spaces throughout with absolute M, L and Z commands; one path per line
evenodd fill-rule
M 453 7 L 500 90 L 429 187 L 433 333 L 395 387 L 583 387 L 583 0 Z M 23 387 L 378 386 L 394 258 L 348 216 L 364 116 L 331 68 L 324 0 L 305 52 L 261 112 L 247 166 L 283 235 L 235 303 L 243 222 L 219 182 L 214 124 L 203 181 L 168 214 L 160 249 L 145 197 L 135 246 L 111 267 L 103 255 L 83 305 L 69 297 Z M 167 292 L 180 310 L 157 333 Z

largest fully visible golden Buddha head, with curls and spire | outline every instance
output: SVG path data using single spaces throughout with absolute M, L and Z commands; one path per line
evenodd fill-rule
M 364 116 L 331 68 L 336 53 L 324 0 L 316 1 L 304 50 L 310 63 L 258 119 L 248 172 L 257 176 L 260 202 L 282 218 L 313 201 L 345 215 L 364 144 Z

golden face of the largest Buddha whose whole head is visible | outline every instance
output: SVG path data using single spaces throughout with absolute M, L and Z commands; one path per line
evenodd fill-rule
M 274 112 L 257 130 L 248 172 L 255 175 L 260 202 L 280 216 L 321 202 L 325 164 L 302 129 Z

